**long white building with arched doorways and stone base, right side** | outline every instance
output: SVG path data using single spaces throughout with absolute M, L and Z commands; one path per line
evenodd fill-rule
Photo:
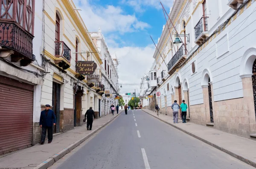
M 172 115 L 174 100 L 184 99 L 190 122 L 255 133 L 255 9 L 255 0 L 175 0 L 153 56 L 150 108 Z

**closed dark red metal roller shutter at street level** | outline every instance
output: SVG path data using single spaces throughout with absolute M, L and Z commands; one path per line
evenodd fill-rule
M 32 89 L 30 84 L 0 76 L 0 155 L 32 146 Z

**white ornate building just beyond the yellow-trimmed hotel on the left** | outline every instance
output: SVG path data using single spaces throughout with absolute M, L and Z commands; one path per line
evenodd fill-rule
M 111 104 L 117 105 L 117 100 L 115 100 L 115 95 L 119 92 L 118 87 L 118 72 L 117 66 L 119 65 L 116 54 L 110 54 L 108 51 L 107 43 L 105 42 L 105 37 L 102 34 L 101 29 L 99 28 L 98 32 L 91 32 L 91 37 L 93 42 L 97 46 L 101 54 L 101 83 L 104 86 L 106 91 L 109 91 L 109 97 L 103 95 L 102 97 L 102 115 L 107 115 L 111 113 L 110 106 Z

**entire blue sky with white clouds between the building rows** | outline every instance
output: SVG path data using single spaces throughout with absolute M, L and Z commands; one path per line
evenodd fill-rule
M 173 0 L 161 0 L 169 12 Z M 105 36 L 110 53 L 119 59 L 121 93 L 139 92 L 142 76 L 154 61 L 154 44 L 161 36 L 165 18 L 159 0 L 74 0 L 89 32 Z

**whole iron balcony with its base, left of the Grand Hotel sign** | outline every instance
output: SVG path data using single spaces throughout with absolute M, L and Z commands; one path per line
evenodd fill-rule
M 71 50 L 63 41 L 55 41 L 55 64 L 58 64 L 62 69 L 67 69 L 71 66 Z

